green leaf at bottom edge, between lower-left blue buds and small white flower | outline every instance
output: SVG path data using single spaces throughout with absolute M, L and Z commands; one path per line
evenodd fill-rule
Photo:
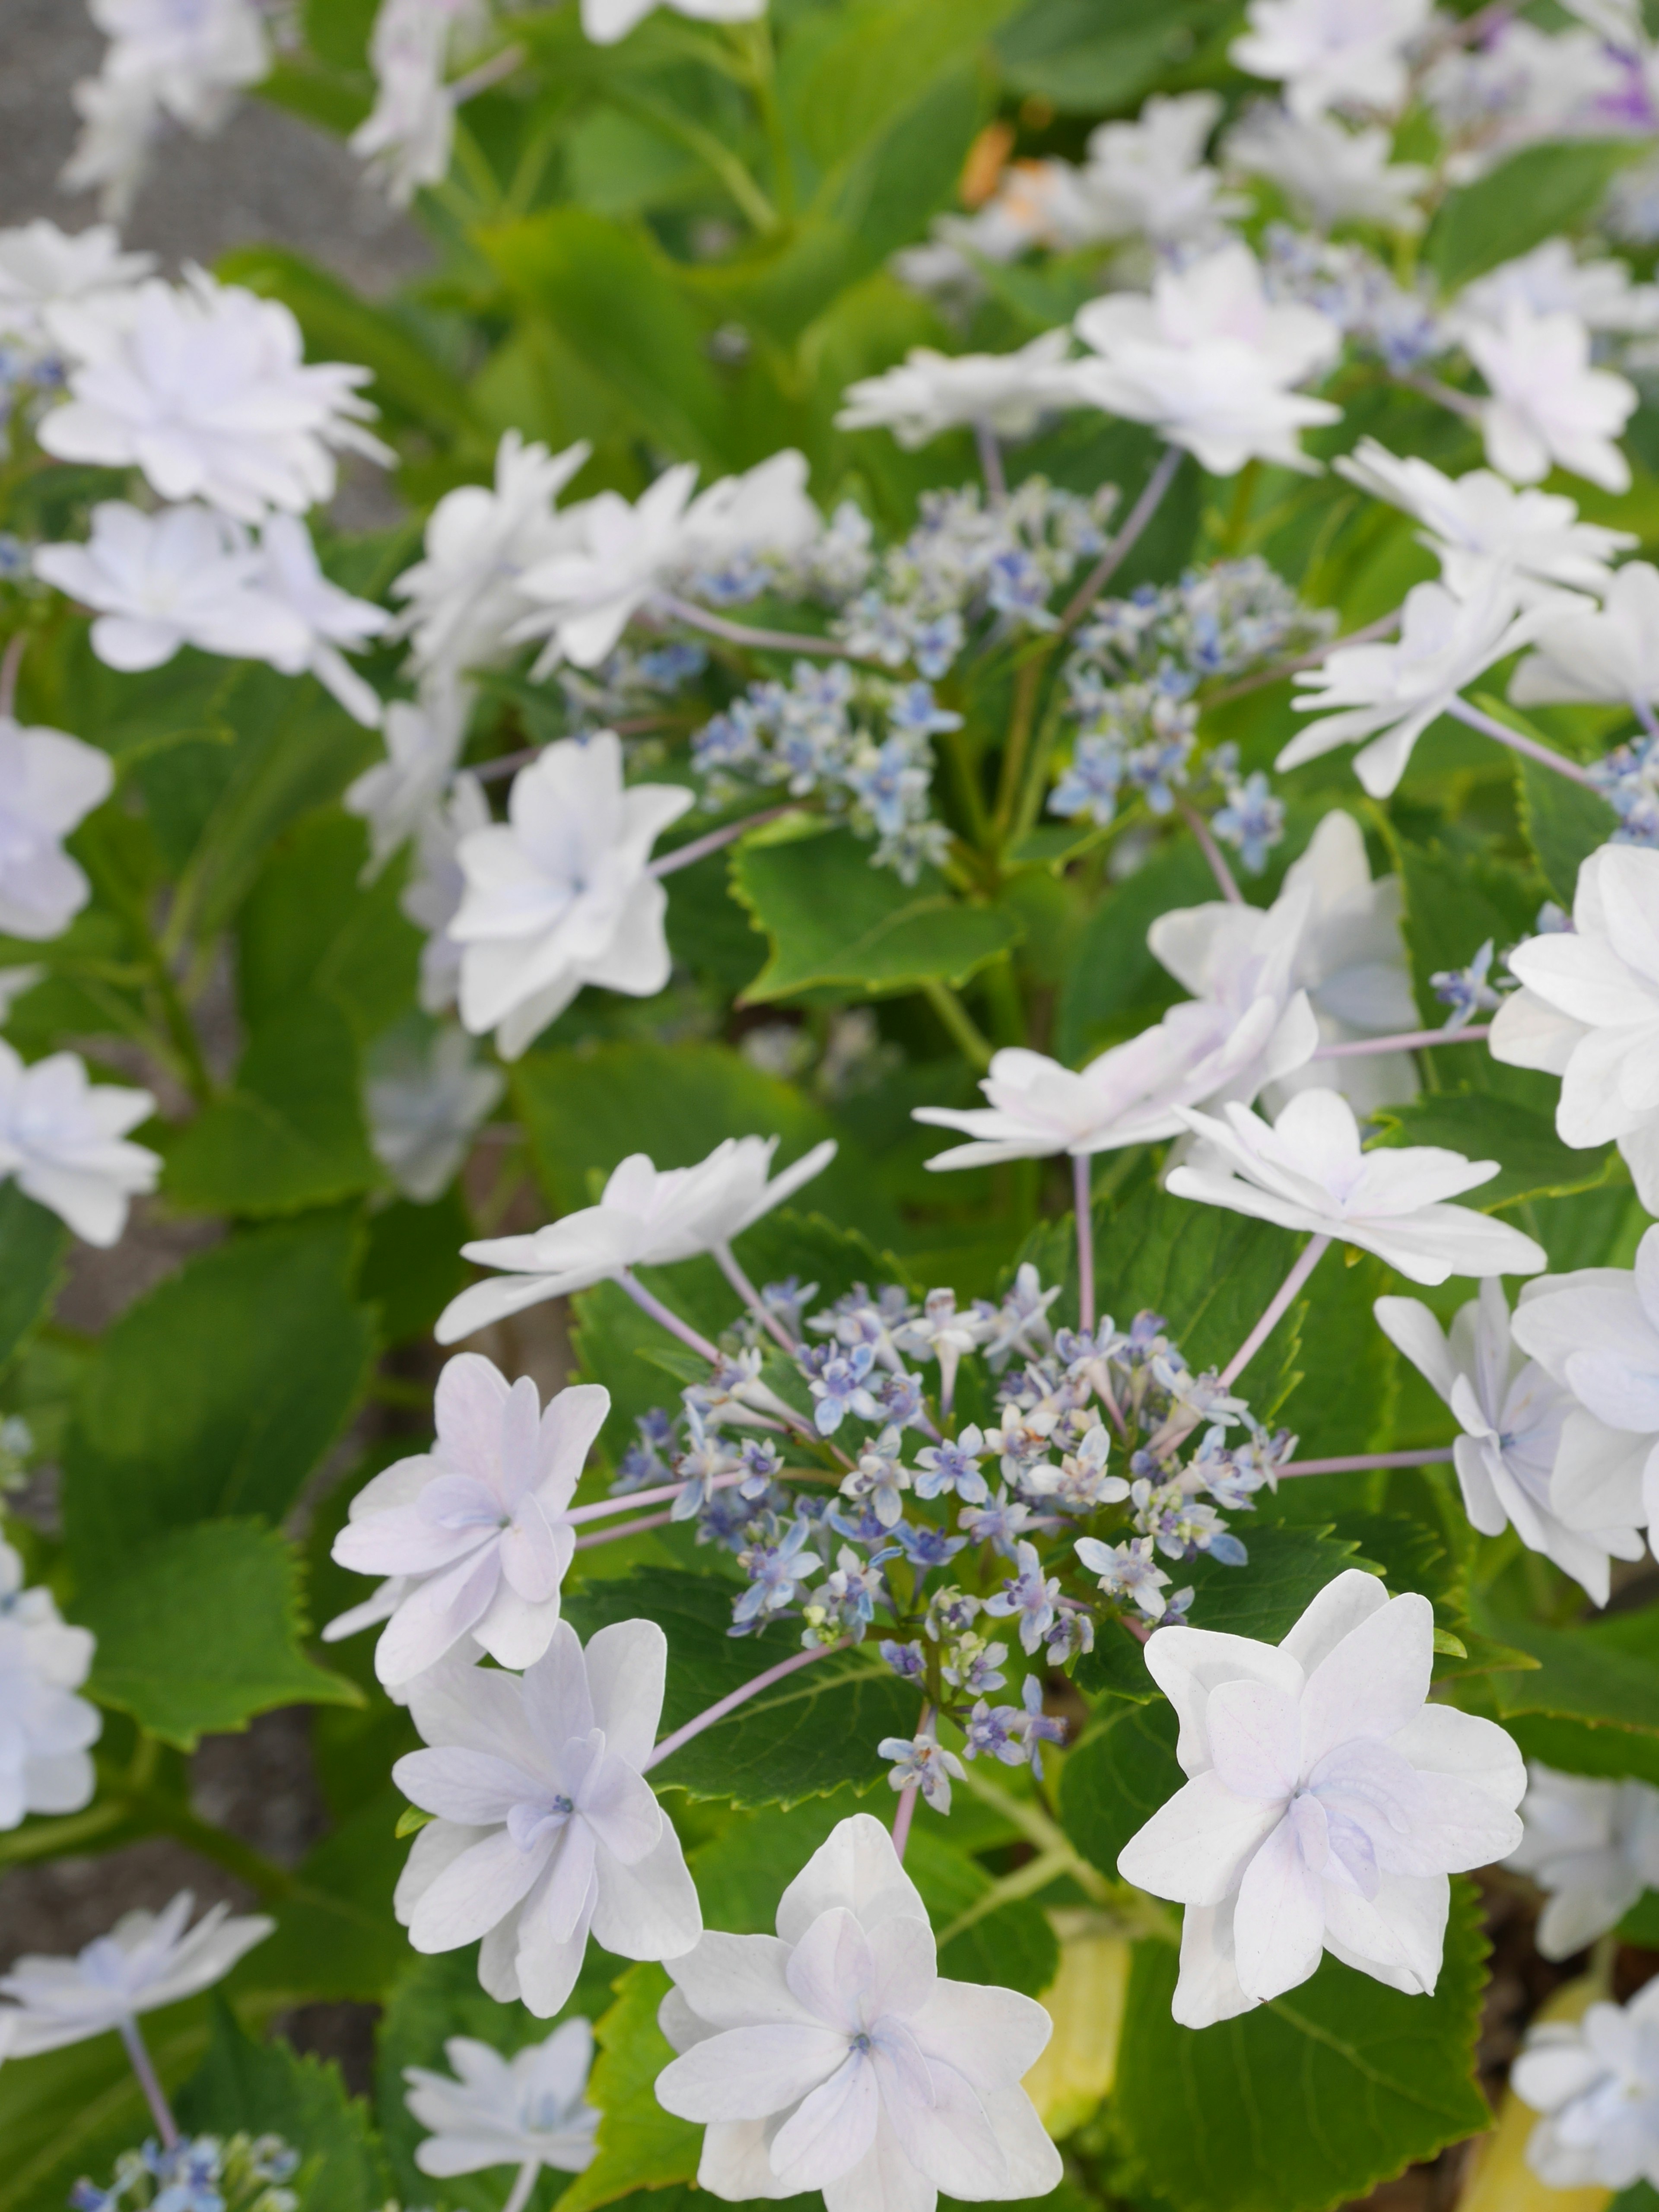
M 299 2212 L 367 2212 L 392 2190 L 367 2108 L 347 2097 L 338 2066 L 257 2044 L 221 1997 L 208 2055 L 179 2090 L 179 2124 L 195 2135 L 281 2135 L 301 2152 Z

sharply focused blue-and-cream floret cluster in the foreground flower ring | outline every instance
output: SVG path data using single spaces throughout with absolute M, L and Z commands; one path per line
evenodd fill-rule
M 812 1296 L 765 1285 L 765 1321 L 792 1336 Z M 1042 1683 L 1029 1677 L 1018 1705 L 989 1701 L 1009 1681 L 1011 1644 L 1057 1668 L 1115 1617 L 1141 1630 L 1186 1619 L 1192 1586 L 1172 1590 L 1170 1568 L 1199 1555 L 1245 1566 L 1219 1506 L 1252 1511 L 1294 1449 L 1214 1374 L 1194 1374 L 1161 1316 L 1055 1329 L 1057 1296 L 1031 1263 L 1000 1303 L 969 1310 L 949 1290 L 916 1301 L 896 1283 L 854 1285 L 807 1314 L 818 1340 L 794 1345 L 810 1429 L 748 1321 L 677 1416 L 639 1420 L 615 1482 L 679 1484 L 672 1515 L 737 1555 L 748 1588 L 732 1635 L 799 1621 L 812 1650 L 883 1630 L 883 1659 L 933 1721 L 920 1750 L 880 1750 L 898 1761 L 896 1787 L 918 1781 L 940 1809 L 951 1754 L 938 1752 L 936 1717 L 962 1728 L 967 1759 L 1040 1763 L 1055 1741 Z M 987 1418 L 958 1422 L 958 1394 L 984 1400 Z M 754 1436 L 757 1422 L 774 1433 Z M 885 1573 L 891 1562 L 902 1575 Z

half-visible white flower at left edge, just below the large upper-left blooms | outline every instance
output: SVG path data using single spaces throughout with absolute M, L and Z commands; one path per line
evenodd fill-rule
M 0 714 L 0 929 L 46 940 L 93 896 L 62 841 L 115 790 L 106 752 Z

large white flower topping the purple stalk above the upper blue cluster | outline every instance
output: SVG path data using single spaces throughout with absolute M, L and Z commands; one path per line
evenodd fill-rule
M 1150 299 L 1091 301 L 1075 327 L 1099 356 L 1073 367 L 1082 398 L 1150 422 L 1212 476 L 1234 476 L 1252 456 L 1314 469 L 1298 431 L 1340 420 L 1340 407 L 1292 389 L 1332 367 L 1340 330 L 1314 307 L 1270 303 L 1248 246 L 1159 270 Z

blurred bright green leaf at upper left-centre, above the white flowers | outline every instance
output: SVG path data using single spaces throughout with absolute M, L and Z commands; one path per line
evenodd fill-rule
M 641 436 L 706 476 L 728 469 L 730 422 L 708 332 L 644 226 L 562 206 L 480 230 L 478 243 L 511 296 L 546 316 Z

